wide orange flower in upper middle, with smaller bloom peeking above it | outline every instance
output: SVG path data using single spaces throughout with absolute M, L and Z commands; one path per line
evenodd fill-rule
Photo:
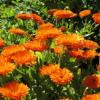
M 62 33 L 57 28 L 37 30 L 36 39 L 46 40 L 48 38 L 55 38 Z

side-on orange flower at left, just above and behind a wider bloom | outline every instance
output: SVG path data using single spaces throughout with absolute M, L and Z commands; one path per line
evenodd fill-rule
M 4 56 L 11 56 L 12 54 L 19 52 L 19 51 L 24 51 L 25 47 L 23 45 L 11 45 L 7 46 L 3 49 L 1 52 L 2 55 Z

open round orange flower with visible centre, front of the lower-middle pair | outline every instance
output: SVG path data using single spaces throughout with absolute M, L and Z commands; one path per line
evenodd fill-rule
M 50 75 L 50 78 L 56 84 L 65 85 L 72 80 L 73 73 L 66 68 L 58 69 Z

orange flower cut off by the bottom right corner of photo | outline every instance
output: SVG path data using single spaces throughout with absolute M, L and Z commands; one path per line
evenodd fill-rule
M 100 93 L 85 95 L 82 97 L 82 100 L 100 100 Z

